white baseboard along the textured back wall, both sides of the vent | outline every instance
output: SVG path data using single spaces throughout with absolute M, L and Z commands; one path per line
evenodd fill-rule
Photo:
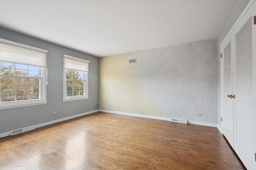
M 140 115 L 140 114 L 134 114 L 134 113 L 120 112 L 120 111 L 110 111 L 110 110 L 102 110 L 102 109 L 100 109 L 99 111 L 107 112 L 107 113 L 115 113 L 115 114 L 120 114 L 120 115 L 128 115 L 128 116 L 136 116 L 136 117 L 145 117 L 145 118 L 150 118 L 150 119 L 166 120 L 166 121 L 170 121 L 170 119 L 171 119 L 171 118 L 168 118 L 168 117 Z M 205 122 L 199 122 L 199 121 L 188 121 L 188 123 L 194 124 L 194 125 L 217 127 L 217 124 L 214 124 L 214 123 L 205 123 Z

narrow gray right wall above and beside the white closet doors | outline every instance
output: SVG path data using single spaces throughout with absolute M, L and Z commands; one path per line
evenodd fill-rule
M 220 113 L 220 44 L 236 22 L 236 20 L 239 18 L 239 16 L 242 14 L 244 8 L 246 5 L 250 2 L 250 0 L 236 0 L 234 3 L 234 6 L 232 7 L 230 14 L 228 15 L 228 18 L 226 19 L 225 23 L 223 24 L 220 33 L 218 35 L 218 125 L 221 126 L 221 113 Z

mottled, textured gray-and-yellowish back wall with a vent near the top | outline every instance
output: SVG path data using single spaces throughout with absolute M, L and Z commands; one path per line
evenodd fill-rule
M 217 123 L 217 39 L 100 58 L 100 109 Z

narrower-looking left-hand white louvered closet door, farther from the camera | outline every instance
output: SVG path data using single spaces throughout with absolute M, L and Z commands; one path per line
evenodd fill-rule
M 231 40 L 228 38 L 226 42 L 223 44 L 224 49 L 222 51 L 223 54 L 223 91 L 222 91 L 222 131 L 232 148 L 234 148 L 234 119 L 233 119 L 233 100 L 231 100 L 228 96 L 233 93 L 233 68 L 231 61 L 231 56 L 233 56 L 233 47 L 231 47 Z

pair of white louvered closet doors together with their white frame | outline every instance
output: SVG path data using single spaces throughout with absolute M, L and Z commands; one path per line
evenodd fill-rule
M 255 0 L 249 6 L 221 45 L 222 132 L 246 168 L 256 170 Z

